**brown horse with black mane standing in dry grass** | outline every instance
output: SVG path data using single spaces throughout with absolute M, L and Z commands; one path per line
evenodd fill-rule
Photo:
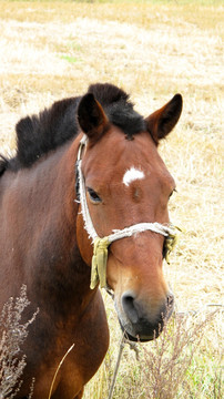
M 0 162 L 0 301 L 26 285 L 24 317 L 39 314 L 17 399 L 28 398 L 33 377 L 33 399 L 48 398 L 72 345 L 51 398 L 82 398 L 109 347 L 99 284 L 133 341 L 157 337 L 171 316 L 162 263 L 175 183 L 157 146 L 181 112 L 175 94 L 143 117 L 122 89 L 95 83 L 18 122 L 17 153 Z

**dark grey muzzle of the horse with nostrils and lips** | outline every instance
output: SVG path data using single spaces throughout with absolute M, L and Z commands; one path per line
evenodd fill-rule
M 157 310 L 150 311 L 150 305 L 145 306 L 135 298 L 132 291 L 124 293 L 121 298 L 115 298 L 115 309 L 122 330 L 132 341 L 145 342 L 157 338 L 164 324 L 173 313 L 174 295 L 170 291 L 157 306 Z

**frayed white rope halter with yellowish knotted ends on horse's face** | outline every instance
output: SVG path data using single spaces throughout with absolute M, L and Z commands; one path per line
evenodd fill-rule
M 169 255 L 173 250 L 177 242 L 177 231 L 181 231 L 179 227 L 173 226 L 172 224 L 162 225 L 161 223 L 139 223 L 123 229 L 115 229 L 105 237 L 99 237 L 95 228 L 93 226 L 88 202 L 85 195 L 85 184 L 84 177 L 81 170 L 82 164 L 82 151 L 86 145 L 88 137 L 83 135 L 80 141 L 77 158 L 77 190 L 79 187 L 79 202 L 81 203 L 81 213 L 84 221 L 84 228 L 88 232 L 89 238 L 92 239 L 93 244 L 93 256 L 92 256 L 92 267 L 91 267 L 91 284 L 90 288 L 94 289 L 100 283 L 101 288 L 106 288 L 106 264 L 108 264 L 108 248 L 111 243 L 116 239 L 122 239 L 125 237 L 131 237 L 135 234 L 151 231 L 157 234 L 161 234 L 165 237 L 164 243 L 164 257 L 167 263 Z

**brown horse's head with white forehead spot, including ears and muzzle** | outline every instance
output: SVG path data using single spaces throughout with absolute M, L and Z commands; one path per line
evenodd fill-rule
M 157 145 L 175 126 L 182 96 L 176 94 L 146 119 L 125 104 L 120 106 L 114 120 L 111 115 L 115 111 L 109 112 L 88 93 L 78 109 L 86 137 L 81 166 L 84 195 L 99 237 L 144 223 L 169 226 L 167 204 L 175 190 Z M 92 244 L 85 222 L 82 209 L 78 243 L 83 259 L 91 265 Z M 174 295 L 162 270 L 165 239 L 149 228 L 109 243 L 106 285 L 114 291 L 121 327 L 131 340 L 157 337 L 172 314 Z

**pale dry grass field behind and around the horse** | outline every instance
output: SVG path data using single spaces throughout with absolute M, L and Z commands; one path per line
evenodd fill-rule
M 21 116 L 93 82 L 122 86 L 144 115 L 176 92 L 184 99 L 160 147 L 177 183 L 171 218 L 183 228 L 164 265 L 176 317 L 167 347 L 162 337 L 141 346 L 140 361 L 125 347 L 114 399 L 222 398 L 222 308 L 213 305 L 223 290 L 223 11 L 217 0 L 0 1 L 1 153 L 13 151 Z M 116 316 L 110 298 L 105 304 L 111 347 L 85 399 L 106 399 L 119 350 Z

